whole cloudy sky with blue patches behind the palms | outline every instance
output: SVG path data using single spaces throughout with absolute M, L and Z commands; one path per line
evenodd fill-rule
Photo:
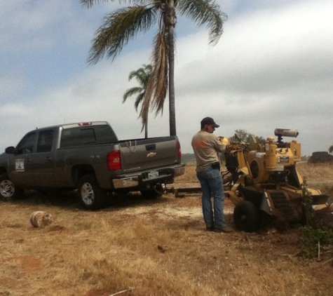
M 333 1 L 216 0 L 228 15 L 224 34 L 177 18 L 175 95 L 183 153 L 211 116 L 216 135 L 262 137 L 297 129 L 302 155 L 333 144 Z M 114 61 L 87 62 L 91 41 L 118 1 L 83 8 L 79 0 L 0 0 L 0 152 L 35 128 L 108 121 L 119 140 L 144 137 L 135 97 L 123 103 L 131 71 L 149 64 L 156 29 L 139 34 Z M 168 100 L 167 100 L 168 101 Z M 169 135 L 149 115 L 149 137 Z M 285 141 L 294 138 L 284 138 Z

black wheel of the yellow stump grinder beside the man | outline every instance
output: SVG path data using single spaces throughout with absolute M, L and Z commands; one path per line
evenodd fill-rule
M 251 201 L 241 201 L 233 210 L 233 222 L 241 231 L 256 231 L 259 229 L 259 221 L 259 210 Z

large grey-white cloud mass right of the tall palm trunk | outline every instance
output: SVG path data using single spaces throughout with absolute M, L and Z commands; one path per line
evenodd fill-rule
M 266 137 L 275 128 L 298 128 L 306 154 L 327 151 L 333 139 L 318 131 L 333 123 L 332 9 L 329 1 L 308 1 L 239 15 L 226 22 L 214 48 L 205 46 L 203 32 L 182 39 L 178 115 L 197 129 L 213 116 L 223 135 L 245 128 Z M 191 149 L 189 140 L 184 146 Z

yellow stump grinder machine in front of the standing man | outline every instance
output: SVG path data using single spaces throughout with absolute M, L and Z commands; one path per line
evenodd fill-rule
M 235 204 L 233 220 L 239 230 L 256 231 L 272 218 L 302 222 L 305 197 L 313 210 L 332 203 L 320 190 L 307 188 L 297 172 L 301 143 L 283 142 L 283 137 L 297 137 L 297 130 L 276 128 L 274 133 L 277 141 L 269 137 L 266 144 L 238 141 L 226 147 L 224 186 Z

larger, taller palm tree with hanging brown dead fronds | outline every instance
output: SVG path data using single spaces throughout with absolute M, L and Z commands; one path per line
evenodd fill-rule
M 81 4 L 90 8 L 93 4 L 106 1 L 108 0 L 81 0 Z M 116 58 L 130 39 L 138 32 L 146 32 L 157 22 L 158 33 L 154 40 L 152 58 L 153 71 L 144 95 L 140 117 L 144 124 L 150 107 L 156 110 L 156 114 L 163 112 L 165 97 L 169 91 L 170 135 L 176 135 L 174 81 L 176 12 L 193 19 L 198 25 L 207 25 L 209 43 L 213 45 L 219 41 L 227 17 L 220 11 L 215 1 L 211 0 L 128 1 L 134 6 L 120 8 L 104 18 L 103 25 L 95 33 L 88 62 L 95 64 L 104 55 L 107 55 L 107 58 Z

